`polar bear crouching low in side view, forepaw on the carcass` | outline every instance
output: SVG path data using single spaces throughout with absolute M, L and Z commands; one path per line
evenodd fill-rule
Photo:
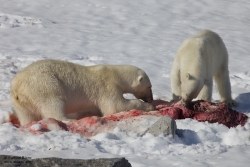
M 131 65 L 81 66 L 40 60 L 16 74 L 10 93 L 21 125 L 42 118 L 68 120 L 154 110 L 145 103 L 153 100 L 147 74 Z M 124 93 L 138 99 L 125 99 Z

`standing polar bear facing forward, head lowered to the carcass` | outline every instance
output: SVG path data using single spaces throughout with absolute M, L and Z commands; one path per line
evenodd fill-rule
M 196 97 L 211 101 L 213 77 L 220 100 L 234 105 L 225 44 L 218 34 L 202 30 L 177 50 L 170 74 L 173 100 L 181 98 L 184 105 Z

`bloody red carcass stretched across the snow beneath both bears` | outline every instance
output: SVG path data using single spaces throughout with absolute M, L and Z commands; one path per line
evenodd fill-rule
M 118 121 L 136 118 L 139 116 L 164 116 L 168 114 L 173 119 L 192 118 L 201 122 L 208 121 L 210 123 L 218 122 L 227 127 L 236 127 L 238 125 L 244 126 L 248 117 L 228 107 L 225 103 L 212 103 L 206 101 L 195 101 L 190 104 L 188 108 L 183 107 L 181 101 L 167 102 L 163 100 L 155 100 L 152 102 L 155 111 L 145 112 L 141 110 L 129 110 L 105 117 L 85 117 L 80 120 L 63 123 L 53 118 L 47 118 L 40 121 L 30 122 L 27 125 L 20 126 L 17 117 L 14 114 L 10 115 L 9 121 L 19 127 L 22 131 L 29 131 L 35 134 L 41 134 L 58 128 L 61 130 L 70 131 L 72 133 L 79 133 L 82 136 L 89 137 L 97 133 L 101 133 L 107 129 L 115 127 Z M 134 119 L 133 121 L 138 121 Z M 40 130 L 33 130 L 31 126 L 34 124 L 41 124 Z M 106 128 L 106 129 L 105 129 Z

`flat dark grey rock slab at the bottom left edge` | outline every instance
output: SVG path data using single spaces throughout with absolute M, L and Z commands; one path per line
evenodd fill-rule
M 100 159 L 62 159 L 62 158 L 37 158 L 19 157 L 11 155 L 0 155 L 0 166 L 2 167 L 131 167 L 131 164 L 125 158 L 100 158 Z

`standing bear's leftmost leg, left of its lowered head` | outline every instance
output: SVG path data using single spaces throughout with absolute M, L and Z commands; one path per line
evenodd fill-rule
M 172 101 L 177 101 L 181 99 L 181 80 L 180 80 L 180 69 L 176 67 L 174 62 L 170 73 L 171 91 L 172 91 Z

